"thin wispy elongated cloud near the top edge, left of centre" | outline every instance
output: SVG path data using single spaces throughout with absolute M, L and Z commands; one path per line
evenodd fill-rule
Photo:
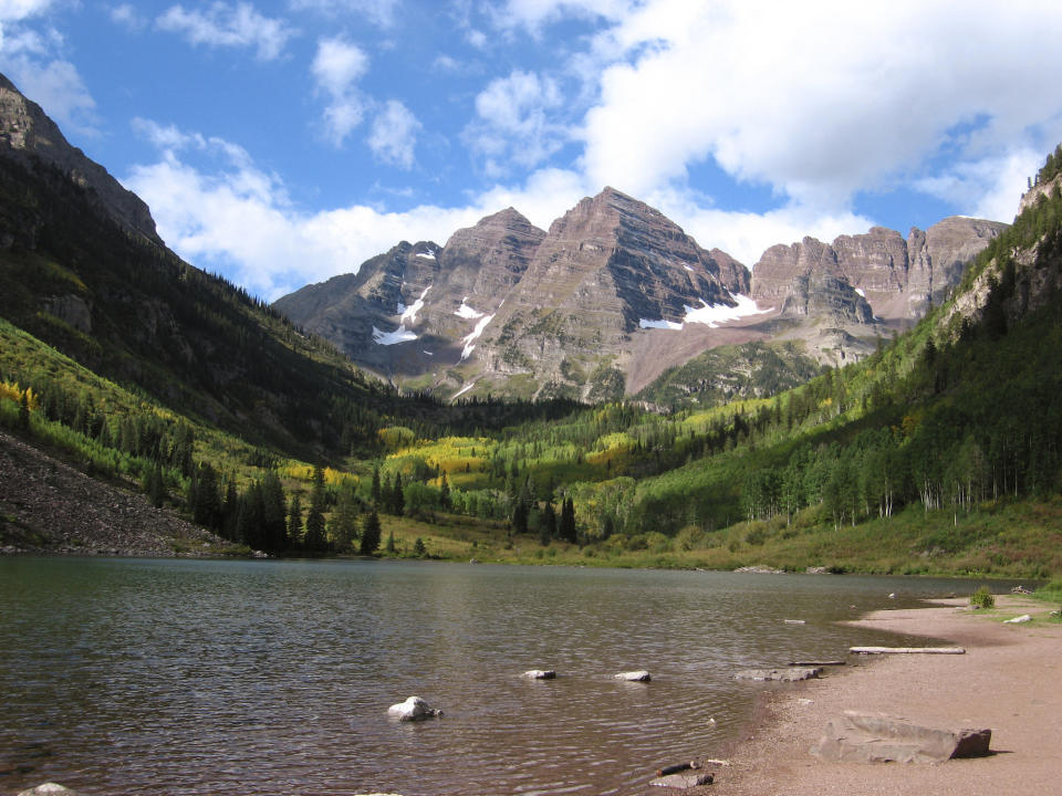
M 280 56 L 295 31 L 279 19 L 260 14 L 253 6 L 240 2 L 211 3 L 205 11 L 169 7 L 155 25 L 159 30 L 184 34 L 194 45 L 211 48 L 256 48 L 262 61 Z

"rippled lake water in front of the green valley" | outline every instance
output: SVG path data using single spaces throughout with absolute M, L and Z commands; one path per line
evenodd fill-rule
M 0 794 L 641 793 L 721 754 L 747 666 L 959 580 L 387 562 L 0 559 Z M 888 599 L 896 593 L 895 599 Z M 794 625 L 785 619 L 803 619 Z M 520 677 L 556 669 L 553 681 Z M 648 669 L 650 683 L 613 674 Z M 388 720 L 410 694 L 441 708 Z M 715 720 L 714 722 L 710 720 Z

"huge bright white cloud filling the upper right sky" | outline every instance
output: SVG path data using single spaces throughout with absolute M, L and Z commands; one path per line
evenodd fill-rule
M 925 169 L 941 142 L 977 145 L 974 159 L 1021 149 L 1062 109 L 1062 85 L 1042 78 L 1062 50 L 1033 44 L 1062 35 L 1062 14 L 1035 0 L 975 6 L 779 3 L 766 23 L 741 0 L 649 0 L 598 38 L 614 62 L 582 127 L 582 166 L 644 196 L 714 158 L 836 213 Z M 978 117 L 980 135 L 949 140 Z

